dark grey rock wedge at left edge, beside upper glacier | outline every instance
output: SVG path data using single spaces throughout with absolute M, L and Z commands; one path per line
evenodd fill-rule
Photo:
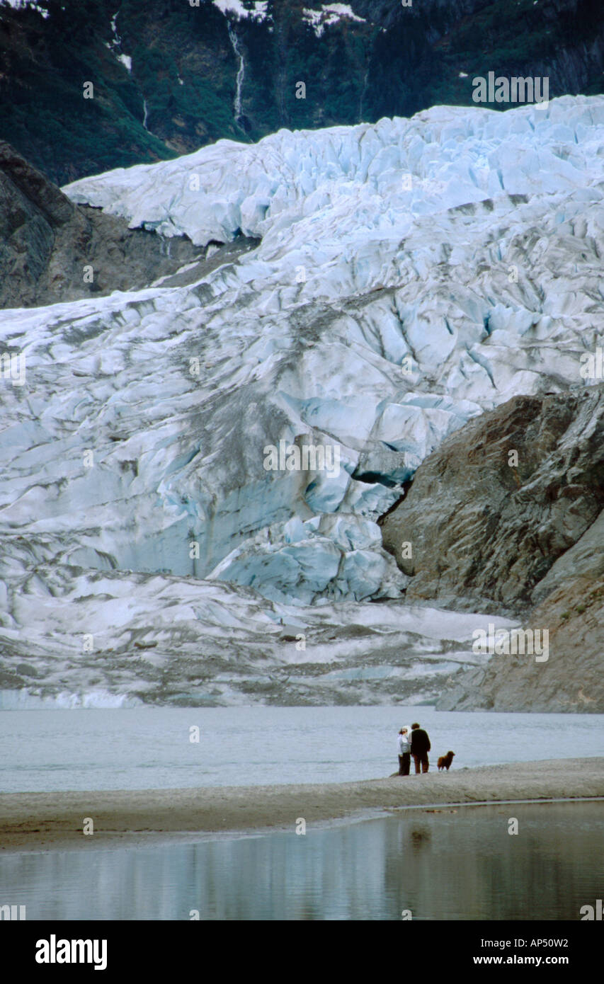
M 203 257 L 190 240 L 72 202 L 0 143 L 0 307 L 30 307 L 147 286 Z M 85 269 L 86 268 L 86 269 Z

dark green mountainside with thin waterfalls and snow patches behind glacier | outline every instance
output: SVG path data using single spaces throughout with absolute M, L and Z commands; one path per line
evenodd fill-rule
M 469 106 L 472 77 L 489 71 L 548 76 L 551 97 L 602 92 L 604 9 L 599 0 L 19 9 L 0 0 L 0 64 L 0 139 L 63 184 L 219 138 Z

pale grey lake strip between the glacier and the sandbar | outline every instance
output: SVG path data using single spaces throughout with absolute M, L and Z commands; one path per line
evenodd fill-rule
M 419 720 L 453 769 L 604 755 L 604 714 L 433 707 L 137 707 L 0 713 L 0 791 L 344 782 L 398 768 Z M 190 739 L 199 727 L 199 743 Z

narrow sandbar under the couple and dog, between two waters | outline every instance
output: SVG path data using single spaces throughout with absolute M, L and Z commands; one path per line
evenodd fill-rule
M 2 850 L 124 846 L 224 830 L 292 830 L 410 806 L 604 797 L 604 759 L 525 762 L 363 782 L 0 796 Z M 84 819 L 94 823 L 85 836 Z

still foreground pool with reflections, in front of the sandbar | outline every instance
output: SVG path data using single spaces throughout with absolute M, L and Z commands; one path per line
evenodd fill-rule
M 422 809 L 303 836 L 3 854 L 0 894 L 29 920 L 577 920 L 602 897 L 603 818 L 601 801 Z

